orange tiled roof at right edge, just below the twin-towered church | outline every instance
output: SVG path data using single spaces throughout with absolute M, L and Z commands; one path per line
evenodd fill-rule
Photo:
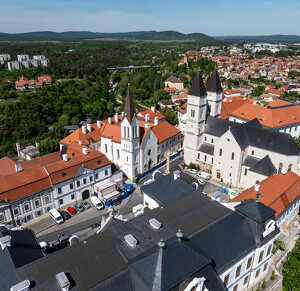
M 259 183 L 259 201 L 276 211 L 275 218 L 281 215 L 298 197 L 300 197 L 300 177 L 294 172 L 266 178 Z M 255 199 L 254 186 L 232 199 L 232 202 Z

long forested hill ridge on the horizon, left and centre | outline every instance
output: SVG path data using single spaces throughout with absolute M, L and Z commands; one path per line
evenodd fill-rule
M 203 33 L 183 34 L 177 31 L 137 31 L 123 33 L 102 33 L 89 31 L 39 31 L 26 33 L 1 33 L 0 41 L 84 41 L 91 39 L 194 41 L 210 42 L 215 39 Z

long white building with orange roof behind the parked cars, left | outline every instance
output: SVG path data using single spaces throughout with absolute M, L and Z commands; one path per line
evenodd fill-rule
M 122 178 L 112 173 L 104 154 L 77 143 L 56 152 L 16 164 L 16 172 L 0 178 L 0 223 L 21 225 L 52 208 L 66 208 L 89 199 L 94 183 Z

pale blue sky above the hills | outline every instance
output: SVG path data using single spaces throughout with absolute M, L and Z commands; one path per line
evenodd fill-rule
M 299 0 L 0 0 L 0 32 L 300 34 Z

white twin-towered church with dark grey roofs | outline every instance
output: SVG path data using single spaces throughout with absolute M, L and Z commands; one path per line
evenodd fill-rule
M 222 102 L 218 83 L 215 70 L 207 91 L 200 73 L 192 85 L 187 103 L 185 162 L 197 163 L 221 182 L 242 188 L 282 171 L 299 174 L 300 151 L 291 135 L 263 128 L 258 119 L 241 124 L 218 118 Z

